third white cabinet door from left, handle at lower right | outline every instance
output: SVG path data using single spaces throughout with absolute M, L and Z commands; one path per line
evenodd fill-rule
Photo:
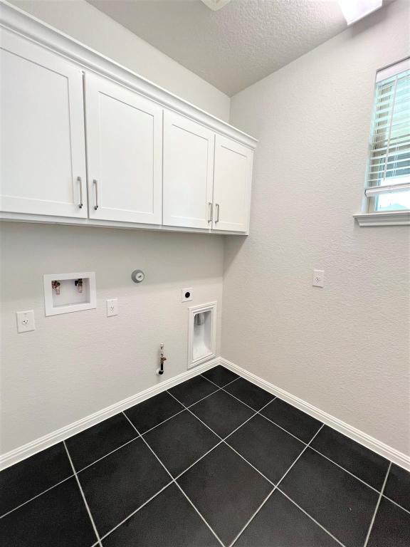
M 214 132 L 164 111 L 164 224 L 211 228 Z

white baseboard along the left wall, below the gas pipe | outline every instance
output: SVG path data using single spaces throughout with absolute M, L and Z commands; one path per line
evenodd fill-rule
M 39 439 L 28 442 L 27 444 L 23 444 L 22 447 L 18 447 L 10 452 L 6 452 L 5 454 L 1 454 L 0 470 L 21 462 L 22 459 L 33 456 L 33 454 L 41 452 L 41 450 L 49 448 L 53 446 L 53 444 L 57 444 L 58 442 L 68 439 L 68 437 L 72 437 L 73 435 L 84 431 L 84 429 L 88 429 L 88 427 L 103 422 L 104 420 L 107 420 L 107 418 L 118 414 L 118 412 L 127 410 L 127 408 L 133 407 L 149 397 L 153 397 L 154 395 L 158 395 L 158 393 L 169 390 L 171 387 L 174 387 L 174 385 L 185 382 L 185 380 L 189 380 L 189 378 L 199 375 L 215 365 L 219 365 L 219 358 L 212 359 L 208 361 L 208 363 L 204 363 L 204 365 L 199 365 L 191 370 L 187 370 L 186 373 L 169 378 L 169 380 L 164 380 L 158 385 L 154 385 L 153 387 L 149 387 L 147 390 L 141 391 L 136 395 L 127 397 L 127 399 L 115 402 L 115 404 L 110 405 L 110 407 L 98 410 L 98 412 L 94 412 L 94 414 L 90 414 L 77 422 L 73 422 L 65 427 L 61 427 L 61 429 L 57 429 L 56 431 L 44 435 L 44 437 L 40 437 Z

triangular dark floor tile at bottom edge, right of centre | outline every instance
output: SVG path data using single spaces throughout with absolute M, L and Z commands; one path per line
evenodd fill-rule
M 235 547 L 340 547 L 278 490 L 266 501 Z

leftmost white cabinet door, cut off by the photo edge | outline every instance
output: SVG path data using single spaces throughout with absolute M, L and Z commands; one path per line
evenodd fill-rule
M 1 210 L 87 217 L 80 68 L 6 30 L 0 65 Z

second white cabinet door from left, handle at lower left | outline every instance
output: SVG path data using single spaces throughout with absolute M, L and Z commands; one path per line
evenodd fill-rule
M 90 218 L 161 224 L 162 108 L 85 75 Z

